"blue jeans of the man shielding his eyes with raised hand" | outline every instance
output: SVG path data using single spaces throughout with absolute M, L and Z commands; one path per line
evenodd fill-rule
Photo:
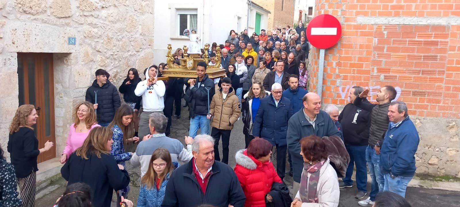
M 371 201 L 375 201 L 377 193 L 383 191 L 385 178 L 383 178 L 383 174 L 380 171 L 380 155 L 375 154 L 375 150 L 370 146 L 366 148 L 366 161 L 368 161 L 369 175 L 372 178 L 369 197 Z

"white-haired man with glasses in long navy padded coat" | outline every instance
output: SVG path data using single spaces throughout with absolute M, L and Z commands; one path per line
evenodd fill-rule
M 281 179 L 286 173 L 286 133 L 288 121 L 293 114 L 291 101 L 282 97 L 282 86 L 274 83 L 271 94 L 260 100 L 259 110 L 253 124 L 254 138 L 265 138 L 276 146 L 276 173 Z

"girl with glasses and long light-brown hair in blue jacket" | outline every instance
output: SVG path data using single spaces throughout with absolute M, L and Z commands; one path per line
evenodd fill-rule
M 158 148 L 153 151 L 149 169 L 141 178 L 137 207 L 161 207 L 169 176 L 177 167 L 179 163 L 171 161 L 167 149 Z

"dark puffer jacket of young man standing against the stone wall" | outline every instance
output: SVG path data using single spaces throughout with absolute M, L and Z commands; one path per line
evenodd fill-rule
M 97 104 L 96 115 L 99 123 L 108 123 L 114 119 L 116 109 L 120 107 L 120 95 L 116 87 L 107 80 L 102 86 L 98 85 L 98 81 L 94 80 L 92 86 L 86 90 L 85 99 L 87 102 Z

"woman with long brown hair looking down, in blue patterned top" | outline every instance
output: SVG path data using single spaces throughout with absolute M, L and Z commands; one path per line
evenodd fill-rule
M 107 128 L 112 130 L 112 150 L 110 154 L 114 156 L 117 164 L 126 168 L 125 161 L 132 157 L 132 152 L 125 152 L 125 146 L 128 142 L 138 142 L 138 137 L 134 136 L 134 124 L 132 122 L 132 115 L 134 111 L 128 104 L 122 104 L 115 112 L 114 120 L 110 122 Z M 124 198 L 128 197 L 129 186 L 121 190 L 121 195 Z M 120 197 L 117 196 L 117 206 L 120 206 Z

